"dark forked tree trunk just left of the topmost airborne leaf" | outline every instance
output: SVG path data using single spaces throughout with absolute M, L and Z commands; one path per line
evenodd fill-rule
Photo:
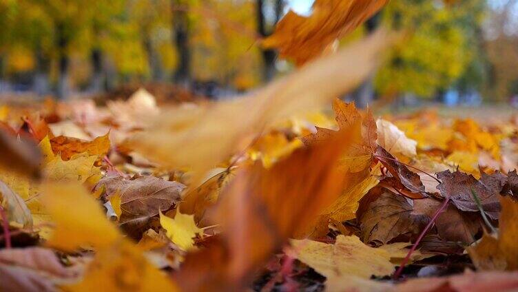
M 256 0 L 257 29 L 260 36 L 266 37 L 271 34 L 271 31 L 282 16 L 283 8 L 284 1 L 276 0 L 275 7 L 273 9 L 275 12 L 275 19 L 273 19 L 274 23 L 269 25 L 265 15 L 265 0 Z M 264 81 L 270 81 L 277 73 L 275 66 L 277 54 L 275 50 L 262 50 L 261 54 L 263 63 L 262 79 Z

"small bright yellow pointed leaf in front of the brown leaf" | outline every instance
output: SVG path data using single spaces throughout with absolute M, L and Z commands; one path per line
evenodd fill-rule
M 194 215 L 186 215 L 180 211 L 176 212 L 174 218 L 160 212 L 160 225 L 167 231 L 167 238 L 186 251 L 194 248 L 194 236 L 203 232 L 196 226 Z

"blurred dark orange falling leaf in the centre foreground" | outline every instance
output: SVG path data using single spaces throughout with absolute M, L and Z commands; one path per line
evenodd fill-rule
M 297 149 L 269 169 L 260 163 L 241 168 L 214 210 L 221 240 L 187 255 L 176 275 L 178 284 L 189 291 L 246 284 L 289 236 L 315 225 L 349 184 L 338 158 L 351 147 L 351 137 L 359 136 L 360 123 L 355 123 L 327 141 Z

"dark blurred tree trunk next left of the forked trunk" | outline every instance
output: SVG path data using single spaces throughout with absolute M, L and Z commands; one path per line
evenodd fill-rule
M 187 86 L 191 82 L 191 51 L 189 48 L 189 17 L 187 7 L 183 6 L 185 3 L 181 0 L 171 1 L 173 41 L 178 52 L 178 67 L 174 72 L 174 81 Z

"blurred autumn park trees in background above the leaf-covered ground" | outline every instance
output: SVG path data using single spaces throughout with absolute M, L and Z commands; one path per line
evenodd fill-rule
M 293 70 L 258 41 L 289 9 L 311 14 L 312 3 L 0 0 L 0 96 L 111 98 L 143 85 L 185 98 L 253 90 Z M 408 37 L 350 99 L 518 107 L 518 1 L 392 0 L 340 43 L 383 25 Z

